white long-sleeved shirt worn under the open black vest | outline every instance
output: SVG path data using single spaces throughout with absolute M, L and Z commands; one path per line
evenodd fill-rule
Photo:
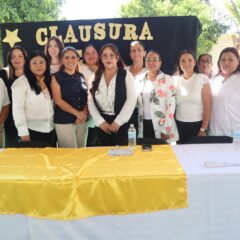
M 116 87 L 116 76 L 110 81 L 109 85 L 107 86 L 104 75 L 102 75 L 101 80 L 99 82 L 98 90 L 95 92 L 95 98 L 98 103 L 98 106 L 102 110 L 102 112 L 114 115 L 114 103 L 115 103 L 115 87 Z M 120 113 L 115 118 L 114 122 L 117 123 L 119 126 L 122 126 L 126 123 L 136 106 L 137 101 L 137 91 L 134 83 L 134 78 L 130 72 L 127 71 L 127 75 L 125 78 L 126 81 L 126 95 L 127 99 L 120 111 Z M 101 125 L 105 122 L 104 118 L 99 113 L 91 94 L 89 94 L 88 99 L 88 109 L 89 112 L 96 124 L 96 126 Z

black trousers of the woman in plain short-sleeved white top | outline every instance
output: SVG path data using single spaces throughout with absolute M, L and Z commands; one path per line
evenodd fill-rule
M 176 120 L 179 140 L 177 141 L 178 144 L 185 144 L 191 138 L 196 137 L 201 126 L 202 121 L 200 122 L 181 122 Z

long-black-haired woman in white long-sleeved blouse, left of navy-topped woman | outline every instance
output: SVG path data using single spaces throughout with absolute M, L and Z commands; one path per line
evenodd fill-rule
M 13 119 L 22 141 L 44 141 L 54 146 L 50 69 L 42 52 L 28 57 L 25 75 L 12 85 Z

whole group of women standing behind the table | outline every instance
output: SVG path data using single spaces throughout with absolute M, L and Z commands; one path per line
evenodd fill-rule
M 240 127 L 240 65 L 235 48 L 212 59 L 184 50 L 178 74 L 161 71 L 162 57 L 140 41 L 130 45 L 132 65 L 118 48 L 90 44 L 80 64 L 78 52 L 51 37 L 43 52 L 27 56 L 19 46 L 0 71 L 0 126 L 5 145 L 44 141 L 49 146 L 127 145 L 134 123 L 139 137 L 187 143 L 195 136 L 227 135 Z M 199 73 L 199 69 L 201 73 Z M 4 84 L 5 83 L 5 84 Z

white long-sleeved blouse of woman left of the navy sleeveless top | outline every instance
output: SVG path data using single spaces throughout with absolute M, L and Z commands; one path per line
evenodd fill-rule
M 12 85 L 12 104 L 13 119 L 19 136 L 29 135 L 28 128 L 44 133 L 53 130 L 53 102 L 49 92 L 37 95 L 25 75 Z

